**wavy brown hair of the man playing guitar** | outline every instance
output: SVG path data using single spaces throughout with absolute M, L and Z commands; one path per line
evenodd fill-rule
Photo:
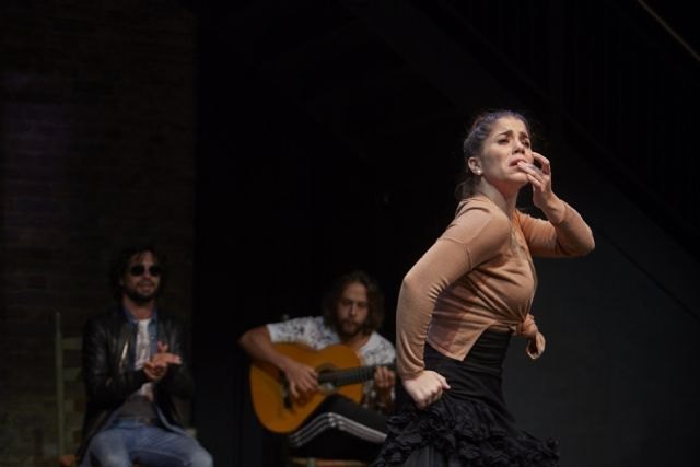
M 377 282 L 364 271 L 354 270 L 338 278 L 325 294 L 322 311 L 324 322 L 334 329 L 338 329 L 338 302 L 342 292 L 351 283 L 361 283 L 368 290 L 368 318 L 362 326 L 364 335 L 372 334 L 382 327 L 384 322 L 384 294 Z

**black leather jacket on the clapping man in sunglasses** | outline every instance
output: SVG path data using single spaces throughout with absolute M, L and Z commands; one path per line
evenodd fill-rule
M 170 365 L 165 377 L 154 385 L 154 401 L 165 418 L 163 422 L 182 427 L 173 396 L 188 399 L 194 393 L 183 328 L 159 310 L 156 329 L 158 340 L 168 346 L 170 353 L 180 355 L 183 363 Z M 143 370 L 133 370 L 136 335 L 137 326 L 120 308 L 93 317 L 85 325 L 82 369 L 88 405 L 79 458 L 85 453 L 92 436 L 102 430 L 132 393 L 148 382 Z

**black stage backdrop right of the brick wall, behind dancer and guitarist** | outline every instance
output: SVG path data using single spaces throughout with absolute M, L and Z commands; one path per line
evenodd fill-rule
M 252 2 L 199 14 L 198 352 L 231 371 L 200 367 L 198 420 L 225 463 L 275 465 L 281 450 L 250 415 L 235 338 L 317 313 L 329 280 L 355 267 L 384 287 L 393 338 L 402 275 L 453 215 L 465 125 L 492 107 L 533 116 L 556 191 L 598 245 L 538 262 L 549 348 L 530 363 L 514 343 L 514 413 L 561 440 L 565 466 L 690 459 L 698 307 L 684 288 L 697 277 L 698 164 L 684 140 L 698 62 L 639 4 Z M 235 325 L 211 326 L 222 313 Z

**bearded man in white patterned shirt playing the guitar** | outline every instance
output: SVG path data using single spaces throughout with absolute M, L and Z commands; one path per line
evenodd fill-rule
M 277 342 L 300 342 L 316 350 L 343 343 L 352 348 L 363 365 L 390 365 L 392 342 L 377 334 L 384 318 L 383 295 L 363 271 L 339 278 L 323 301 L 323 316 L 300 317 L 246 331 L 238 343 L 255 360 L 277 366 L 287 377 L 292 397 L 303 398 L 318 387 L 316 371 L 278 352 Z M 328 396 L 289 435 L 294 456 L 371 462 L 386 437 L 385 417 L 393 410 L 395 373 L 377 366 L 365 383 L 360 405 L 341 395 Z

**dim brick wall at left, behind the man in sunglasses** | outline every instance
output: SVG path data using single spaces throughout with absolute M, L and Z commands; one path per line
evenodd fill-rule
M 0 2 L 0 466 L 55 465 L 54 313 L 110 304 L 115 248 L 154 238 L 188 320 L 195 19 L 174 1 Z

